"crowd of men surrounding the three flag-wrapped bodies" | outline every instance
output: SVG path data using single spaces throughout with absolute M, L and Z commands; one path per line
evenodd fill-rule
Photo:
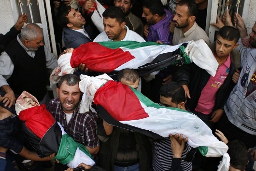
M 218 63 L 215 76 L 191 63 L 168 66 L 150 81 L 150 75 L 140 78 L 135 70 L 124 69 L 119 71 L 116 81 L 141 91 L 155 103 L 194 113 L 216 137 L 228 143 L 229 170 L 253 170 L 256 160 L 256 22 L 247 35 L 243 18 L 239 14 L 231 18 L 227 11 L 222 20 L 218 17 L 217 23 L 211 23 L 220 30 L 216 41 L 210 43 L 204 31 L 207 0 L 170 0 L 167 8 L 160 0 L 144 0 L 141 16 L 131 12 L 135 0 L 99 0 L 106 8 L 102 14 L 104 31 L 100 33 L 92 22 L 92 13 L 98 12 L 94 1 L 77 1 L 77 9 L 70 5 L 70 0 L 63 1 L 53 4 L 56 21 L 63 27 L 62 40 L 66 48 L 106 41 L 156 42 L 172 46 L 203 39 Z M 140 18 L 145 18 L 144 24 Z M 8 33 L 0 34 L 0 171 L 42 170 L 49 165 L 45 161 L 52 159 L 52 156 L 38 157 L 22 136 L 21 121 L 14 106 L 17 96 L 24 90 L 34 95 L 40 104 L 46 104 L 68 135 L 85 145 L 96 167 L 78 165 L 84 169 L 217 170 L 220 160 L 201 157 L 187 144 L 188 138 L 183 138 L 182 133 L 155 140 L 109 125 L 100 113 L 80 113 L 82 92 L 77 73 L 62 76 L 57 85 L 58 98 L 51 100 L 46 89 L 48 70 L 58 66 L 57 59 L 44 46 L 42 29 L 34 23 L 24 24 L 27 21 L 26 14 L 22 14 Z M 80 70 L 88 71 L 83 64 Z M 72 170 L 55 163 L 54 170 L 65 169 Z

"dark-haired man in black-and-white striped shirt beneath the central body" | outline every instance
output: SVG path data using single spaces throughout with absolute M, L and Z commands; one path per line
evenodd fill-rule
M 173 107 L 179 109 L 185 109 L 185 91 L 181 85 L 176 82 L 168 82 L 163 85 L 159 91 L 160 94 L 160 103 L 166 107 Z M 170 148 L 171 142 L 170 138 L 164 138 L 161 140 L 156 140 L 154 142 L 154 155 L 152 161 L 152 167 L 154 171 L 168 171 L 171 167 L 171 159 L 173 158 L 173 152 Z M 192 147 L 187 143 L 185 144 L 184 151 L 181 155 L 181 158 L 187 155 Z M 183 171 L 192 169 L 192 162 L 187 162 L 181 160 L 180 162 Z

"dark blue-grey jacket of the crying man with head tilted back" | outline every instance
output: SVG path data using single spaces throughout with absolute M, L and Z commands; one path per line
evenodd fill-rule
M 62 39 L 65 43 L 66 48 L 74 49 L 79 47 L 81 44 L 91 42 L 91 40 L 84 34 L 66 27 L 64 27 L 62 31 Z

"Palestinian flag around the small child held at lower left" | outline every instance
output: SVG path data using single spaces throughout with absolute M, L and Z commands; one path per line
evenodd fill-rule
M 77 167 L 80 163 L 94 165 L 91 154 L 82 145 L 73 140 L 56 122 L 44 104 L 24 109 L 19 112 L 19 119 L 25 137 L 36 150 L 39 157 L 47 157 L 52 153 L 60 163 L 68 167 Z

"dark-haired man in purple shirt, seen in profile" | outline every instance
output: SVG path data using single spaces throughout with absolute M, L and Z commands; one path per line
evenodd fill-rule
M 159 41 L 171 45 L 172 34 L 169 32 L 169 23 L 173 16 L 164 9 L 160 0 L 146 0 L 143 3 L 142 17 L 146 19 L 149 25 L 147 42 Z

